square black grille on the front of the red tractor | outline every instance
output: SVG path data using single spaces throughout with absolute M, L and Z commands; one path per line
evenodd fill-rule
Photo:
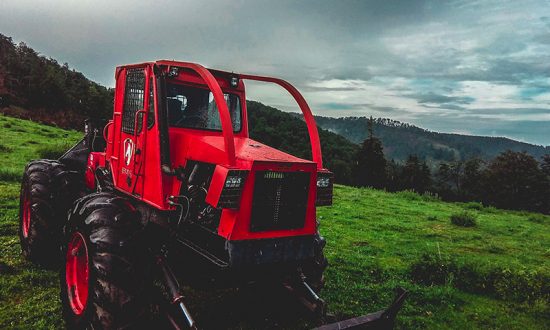
M 310 173 L 257 171 L 250 231 L 303 228 Z

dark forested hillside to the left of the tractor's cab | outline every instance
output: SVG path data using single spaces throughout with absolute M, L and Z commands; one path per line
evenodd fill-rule
M 113 68 L 114 70 L 114 68 Z M 113 90 L 0 34 L 0 109 L 64 128 L 112 113 Z

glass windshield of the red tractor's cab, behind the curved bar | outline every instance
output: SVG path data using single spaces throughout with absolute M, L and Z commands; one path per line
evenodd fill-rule
M 208 89 L 167 83 L 166 103 L 171 127 L 222 130 L 214 95 Z M 241 104 L 235 94 L 224 93 L 233 131 L 241 130 Z

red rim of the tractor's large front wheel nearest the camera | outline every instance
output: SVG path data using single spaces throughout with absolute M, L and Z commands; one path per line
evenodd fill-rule
M 88 301 L 88 247 L 81 233 L 71 237 L 65 264 L 69 304 L 76 315 L 82 314 Z

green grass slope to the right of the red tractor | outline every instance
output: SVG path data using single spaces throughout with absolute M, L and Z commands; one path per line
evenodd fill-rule
M 345 317 L 383 308 L 402 286 L 411 292 L 399 317 L 403 328 L 549 324 L 549 216 L 344 186 L 334 199 L 318 212 L 331 264 L 324 296 L 333 312 Z M 476 227 L 449 221 L 465 210 L 475 214 Z M 438 260 L 454 271 L 443 271 L 435 284 L 415 281 L 412 267 L 426 255 L 436 260 L 425 263 L 427 274 L 438 270 Z M 484 288 L 490 285 L 496 288 Z

